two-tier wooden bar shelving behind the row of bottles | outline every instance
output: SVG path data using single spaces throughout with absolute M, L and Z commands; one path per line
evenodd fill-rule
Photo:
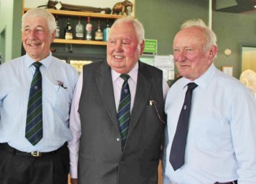
M 26 13 L 30 8 L 23 8 L 23 13 Z M 54 57 L 71 64 L 71 61 L 104 61 L 106 59 L 106 42 L 95 41 L 94 34 L 97 29 L 98 20 L 102 21 L 102 31 L 106 27 L 106 20 L 109 20 L 109 24 L 113 24 L 113 21 L 121 18 L 121 15 L 102 14 L 102 13 L 87 13 L 78 11 L 56 10 L 48 9 L 54 17 L 58 16 L 58 23 L 60 24 L 60 39 L 54 39 L 51 44 L 51 50 Z M 92 40 L 79 40 L 79 39 L 64 39 L 64 30 L 66 26 L 66 20 L 69 18 L 72 24 L 72 34 L 75 38 L 75 29 L 78 22 L 78 18 L 81 17 L 82 24 L 85 26 L 87 23 L 87 17 L 91 17 L 91 23 L 93 24 Z M 84 32 L 85 35 L 85 32 Z M 68 49 L 67 49 L 68 48 Z M 83 63 L 83 62 L 82 62 Z M 81 64 L 83 65 L 83 64 Z

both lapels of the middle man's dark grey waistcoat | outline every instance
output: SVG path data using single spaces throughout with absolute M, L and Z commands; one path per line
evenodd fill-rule
M 139 123 L 139 118 L 142 116 L 144 108 L 149 104 L 150 83 L 151 75 L 147 69 L 143 68 L 143 63 L 139 61 L 139 72 L 137 79 L 137 87 L 135 92 L 135 101 L 132 109 L 132 116 L 130 120 L 128 137 L 132 133 L 136 124 Z M 113 123 L 113 126 L 119 132 L 119 126 L 117 121 L 117 110 L 115 100 L 113 97 L 113 82 L 111 77 L 111 68 L 103 61 L 100 68 L 98 68 L 96 75 L 96 84 L 98 86 L 98 93 L 102 99 L 103 105 L 106 108 L 106 112 L 109 114 L 109 118 Z

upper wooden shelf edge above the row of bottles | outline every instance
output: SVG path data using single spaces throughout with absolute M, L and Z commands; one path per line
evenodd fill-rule
M 98 17 L 106 19 L 118 19 L 123 16 L 113 15 L 113 14 L 103 14 L 103 13 L 88 13 L 88 12 L 78 12 L 78 11 L 67 11 L 67 10 L 57 10 L 57 9 L 48 9 L 50 13 L 54 15 L 62 16 L 73 16 L 73 17 Z M 27 12 L 28 8 L 24 8 L 24 12 Z

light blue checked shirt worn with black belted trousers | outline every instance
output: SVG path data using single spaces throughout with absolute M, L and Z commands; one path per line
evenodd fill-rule
M 34 146 L 25 138 L 28 96 L 35 73 L 33 62 L 25 55 L 0 65 L 0 142 L 24 152 L 50 152 L 72 139 L 69 112 L 78 73 L 51 53 L 40 61 L 43 138 Z

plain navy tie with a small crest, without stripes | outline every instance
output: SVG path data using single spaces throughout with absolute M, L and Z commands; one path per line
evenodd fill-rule
M 192 92 L 198 85 L 196 83 L 187 84 L 187 92 L 184 100 L 184 105 L 180 111 L 180 117 L 176 127 L 176 133 L 173 138 L 173 145 L 169 161 L 176 171 L 184 164 L 184 155 L 187 143 L 188 121 L 191 111 Z

